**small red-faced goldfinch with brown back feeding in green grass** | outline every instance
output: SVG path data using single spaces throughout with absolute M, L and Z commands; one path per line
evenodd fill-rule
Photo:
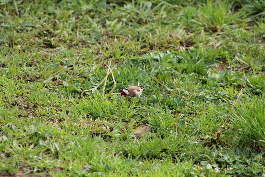
M 133 97 L 137 97 L 140 99 L 140 96 L 143 92 L 143 89 L 145 89 L 146 87 L 148 87 L 148 85 L 145 86 L 130 86 L 128 88 L 122 89 L 121 91 L 121 96 L 122 97 L 126 97 L 126 96 L 130 96 L 131 98 L 129 100 L 131 100 Z

